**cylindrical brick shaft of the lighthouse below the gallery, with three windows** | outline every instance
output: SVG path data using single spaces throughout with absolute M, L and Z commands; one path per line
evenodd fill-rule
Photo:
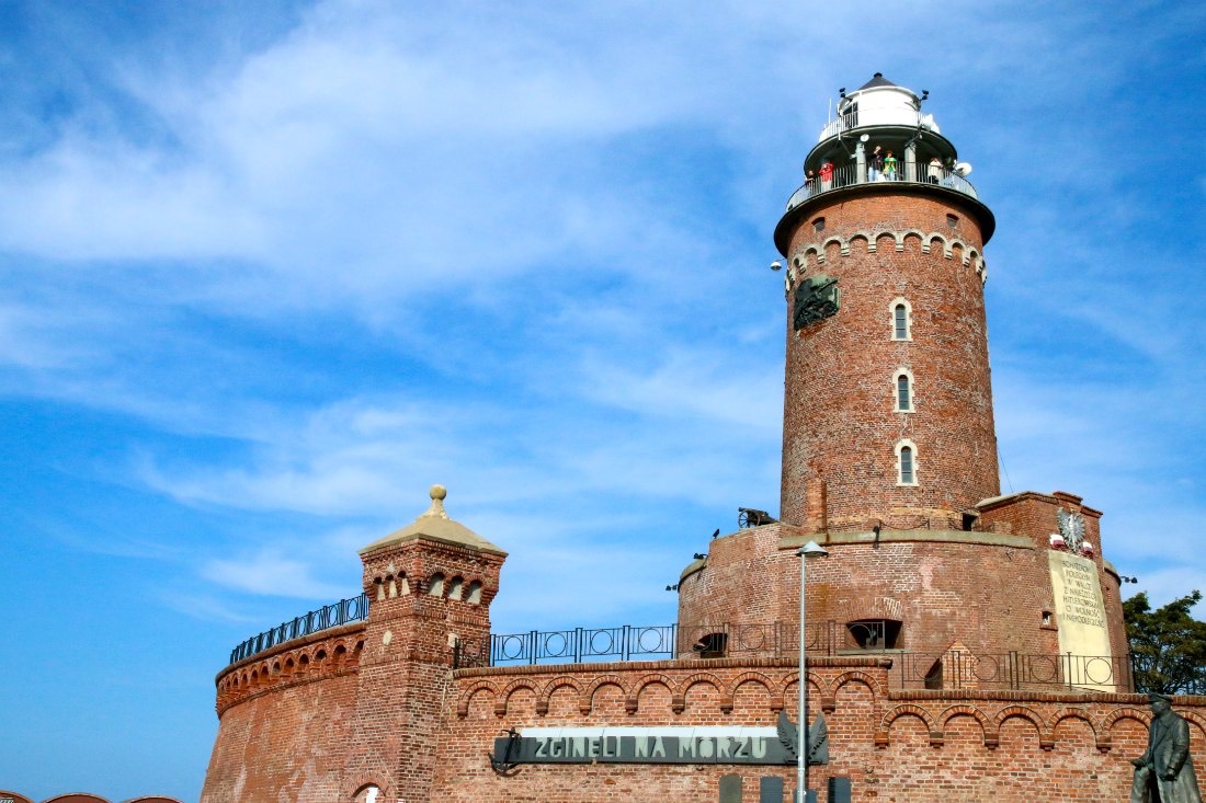
M 959 528 L 1000 488 L 976 218 L 954 198 L 891 191 L 822 195 L 806 211 L 789 281 L 825 274 L 842 297 L 837 315 L 800 330 L 789 299 L 780 518 L 812 532 Z M 907 340 L 894 339 L 896 299 L 911 310 Z M 912 412 L 894 411 L 901 370 Z M 897 483 L 906 439 L 915 486 Z

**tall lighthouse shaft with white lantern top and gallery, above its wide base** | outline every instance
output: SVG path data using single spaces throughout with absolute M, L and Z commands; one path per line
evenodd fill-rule
M 804 162 L 788 258 L 781 518 L 810 532 L 962 529 L 1000 493 L 989 209 L 923 98 L 876 74 Z

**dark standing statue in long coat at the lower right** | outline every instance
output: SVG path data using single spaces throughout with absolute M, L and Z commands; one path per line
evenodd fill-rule
M 1155 692 L 1147 751 L 1135 764 L 1131 803 L 1202 803 L 1189 760 L 1189 723 L 1172 713 L 1172 698 Z

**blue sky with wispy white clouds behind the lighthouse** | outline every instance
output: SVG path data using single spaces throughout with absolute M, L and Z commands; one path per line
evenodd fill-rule
M 0 1 L 0 787 L 195 799 L 230 647 L 358 593 L 432 482 L 510 551 L 496 631 L 673 621 L 778 509 L 771 231 L 876 71 L 997 217 L 1003 490 L 1206 591 L 1204 41 L 1192 2 Z

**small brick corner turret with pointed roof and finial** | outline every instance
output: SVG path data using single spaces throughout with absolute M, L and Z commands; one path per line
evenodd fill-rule
M 427 512 L 361 550 L 371 606 L 341 799 L 428 799 L 453 656 L 490 640 L 507 553 L 449 518 L 446 494 L 432 486 Z

